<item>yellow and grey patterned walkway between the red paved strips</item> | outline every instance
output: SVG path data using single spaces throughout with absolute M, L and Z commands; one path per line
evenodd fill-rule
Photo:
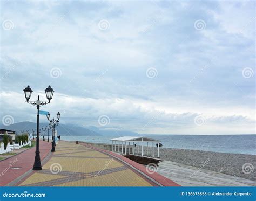
M 109 153 L 83 144 L 60 141 L 56 152 L 43 165 L 43 170 L 30 171 L 11 185 L 158 186 L 159 183 Z

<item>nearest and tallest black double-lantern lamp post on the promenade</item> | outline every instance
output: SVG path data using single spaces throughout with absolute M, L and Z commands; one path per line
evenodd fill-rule
M 37 97 L 37 101 L 29 101 L 31 94 L 32 94 L 32 89 L 28 86 L 24 90 L 25 93 L 25 99 L 26 102 L 33 106 L 37 106 L 37 136 L 36 136 L 36 155 L 35 155 L 35 162 L 33 165 L 33 170 L 42 170 L 42 165 L 41 165 L 41 160 L 40 160 L 40 151 L 39 151 L 39 109 L 40 106 L 46 105 L 51 102 L 54 90 L 51 88 L 49 85 L 48 88 L 45 89 L 45 94 L 46 98 L 48 99 L 48 102 L 41 102 L 39 100 L 39 95 Z

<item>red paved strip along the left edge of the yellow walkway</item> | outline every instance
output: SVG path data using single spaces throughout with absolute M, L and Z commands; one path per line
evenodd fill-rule
M 32 169 L 35 161 L 35 151 L 36 146 L 4 161 L 0 161 L 0 186 L 5 186 Z M 41 140 L 39 143 L 39 151 L 42 163 L 43 159 L 51 151 L 51 143 Z

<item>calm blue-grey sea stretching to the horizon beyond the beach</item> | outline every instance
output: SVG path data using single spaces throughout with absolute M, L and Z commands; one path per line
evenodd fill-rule
M 62 140 L 109 143 L 120 136 L 62 136 Z M 158 135 L 163 147 L 256 155 L 256 135 Z M 146 143 L 145 143 L 146 145 Z

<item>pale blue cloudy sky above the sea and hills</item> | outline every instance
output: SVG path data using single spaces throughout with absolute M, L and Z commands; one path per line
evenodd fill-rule
M 2 124 L 255 133 L 253 1 L 1 1 Z M 46 122 L 46 117 L 41 116 Z M 0 122 L 1 123 L 1 122 Z

